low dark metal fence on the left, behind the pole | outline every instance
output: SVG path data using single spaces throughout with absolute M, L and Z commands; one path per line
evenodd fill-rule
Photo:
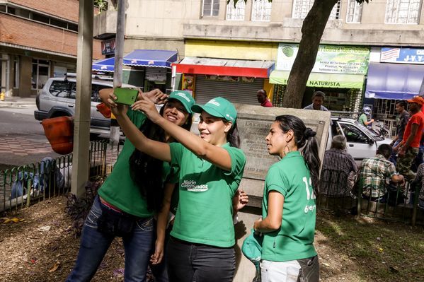
M 120 146 L 93 141 L 89 151 L 89 175 L 104 177 L 120 152 Z M 35 202 L 69 192 L 72 154 L 43 158 L 38 163 L 0 171 L 0 212 L 30 206 Z

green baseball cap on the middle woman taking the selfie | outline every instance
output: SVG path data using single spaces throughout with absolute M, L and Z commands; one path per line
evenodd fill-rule
M 236 123 L 237 119 L 236 107 L 234 107 L 234 105 L 231 104 L 229 100 L 222 97 L 213 98 L 205 105 L 195 104 L 191 107 L 191 110 L 197 113 L 205 111 L 214 117 L 222 117 L 223 119 L 232 122 L 233 124 Z

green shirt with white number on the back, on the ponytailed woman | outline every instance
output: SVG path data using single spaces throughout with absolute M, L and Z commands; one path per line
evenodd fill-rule
M 299 151 L 288 153 L 268 170 L 263 191 L 263 218 L 268 215 L 268 194 L 273 190 L 284 196 L 281 228 L 263 233 L 261 258 L 287 262 L 314 257 L 316 197 Z

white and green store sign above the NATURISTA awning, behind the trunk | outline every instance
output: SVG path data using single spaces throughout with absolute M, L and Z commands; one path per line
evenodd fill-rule
M 299 45 L 278 45 L 276 70 L 290 71 L 297 56 Z M 315 73 L 367 74 L 369 48 L 337 45 L 320 45 L 316 55 Z

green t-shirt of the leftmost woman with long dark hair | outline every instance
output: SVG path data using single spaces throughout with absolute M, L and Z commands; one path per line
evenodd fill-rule
M 127 115 L 138 128 L 146 120 L 146 116 L 142 112 L 128 110 Z M 147 202 L 142 197 L 139 187 L 132 181 L 130 175 L 129 160 L 133 151 L 134 146 L 129 139 L 126 139 L 112 172 L 106 178 L 98 194 L 109 204 L 120 208 L 120 210 L 133 216 L 145 218 L 151 216 L 153 212 L 147 210 Z M 162 180 L 165 181 L 170 173 L 171 166 L 169 163 L 164 162 Z

